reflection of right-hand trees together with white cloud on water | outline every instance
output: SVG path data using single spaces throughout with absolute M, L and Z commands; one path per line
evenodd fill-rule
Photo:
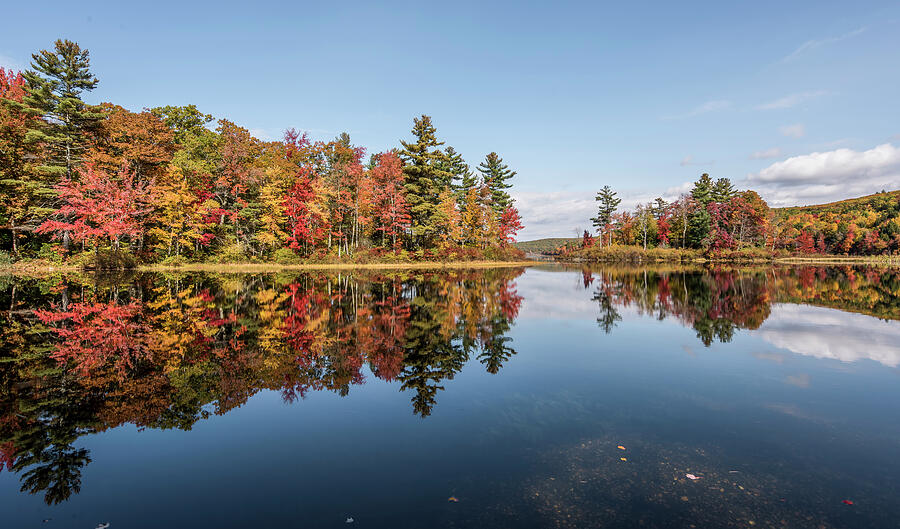
M 730 342 L 738 329 L 759 329 L 774 345 L 800 354 L 898 365 L 900 351 L 894 344 L 900 343 L 900 329 L 867 317 L 900 319 L 896 270 L 596 267 L 582 268 L 581 274 L 583 288 L 593 290 L 599 307 L 597 323 L 607 334 L 621 321 L 620 310 L 634 308 L 640 315 L 674 318 L 692 327 L 705 346 Z M 773 311 L 777 311 L 773 323 L 764 325 Z M 848 327 L 859 332 L 848 334 Z

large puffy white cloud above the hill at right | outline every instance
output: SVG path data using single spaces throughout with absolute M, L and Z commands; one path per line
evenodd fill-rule
M 889 143 L 867 151 L 836 149 L 793 156 L 747 176 L 771 206 L 831 202 L 900 189 L 900 148 Z

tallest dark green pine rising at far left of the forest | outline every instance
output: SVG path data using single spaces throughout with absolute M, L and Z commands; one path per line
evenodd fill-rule
M 33 70 L 24 74 L 22 105 L 43 119 L 34 120 L 29 143 L 41 144 L 47 158 L 39 171 L 71 178 L 87 148 L 89 133 L 103 117 L 82 101 L 81 94 L 97 86 L 90 71 L 88 50 L 69 40 L 57 40 L 53 51 L 32 54 Z

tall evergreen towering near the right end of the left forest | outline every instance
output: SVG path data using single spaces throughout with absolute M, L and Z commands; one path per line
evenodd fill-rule
M 423 114 L 414 118 L 412 133 L 415 141 L 400 142 L 403 146 L 400 157 L 405 163 L 404 188 L 412 216 L 413 236 L 420 245 L 430 246 L 440 228 L 440 195 L 452 175 L 444 169 L 449 166 L 449 158 L 440 149 L 444 143 L 437 140 L 431 117 Z

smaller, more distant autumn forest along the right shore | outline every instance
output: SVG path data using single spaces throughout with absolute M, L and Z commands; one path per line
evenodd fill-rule
M 900 254 L 900 191 L 882 191 L 832 204 L 770 208 L 753 190 L 739 191 L 728 178 L 704 173 L 689 193 L 657 198 L 620 211 L 609 186 L 597 193 L 594 233 L 557 254 L 597 254 L 616 245 L 686 249 L 707 257 L 735 251 L 757 254 Z

